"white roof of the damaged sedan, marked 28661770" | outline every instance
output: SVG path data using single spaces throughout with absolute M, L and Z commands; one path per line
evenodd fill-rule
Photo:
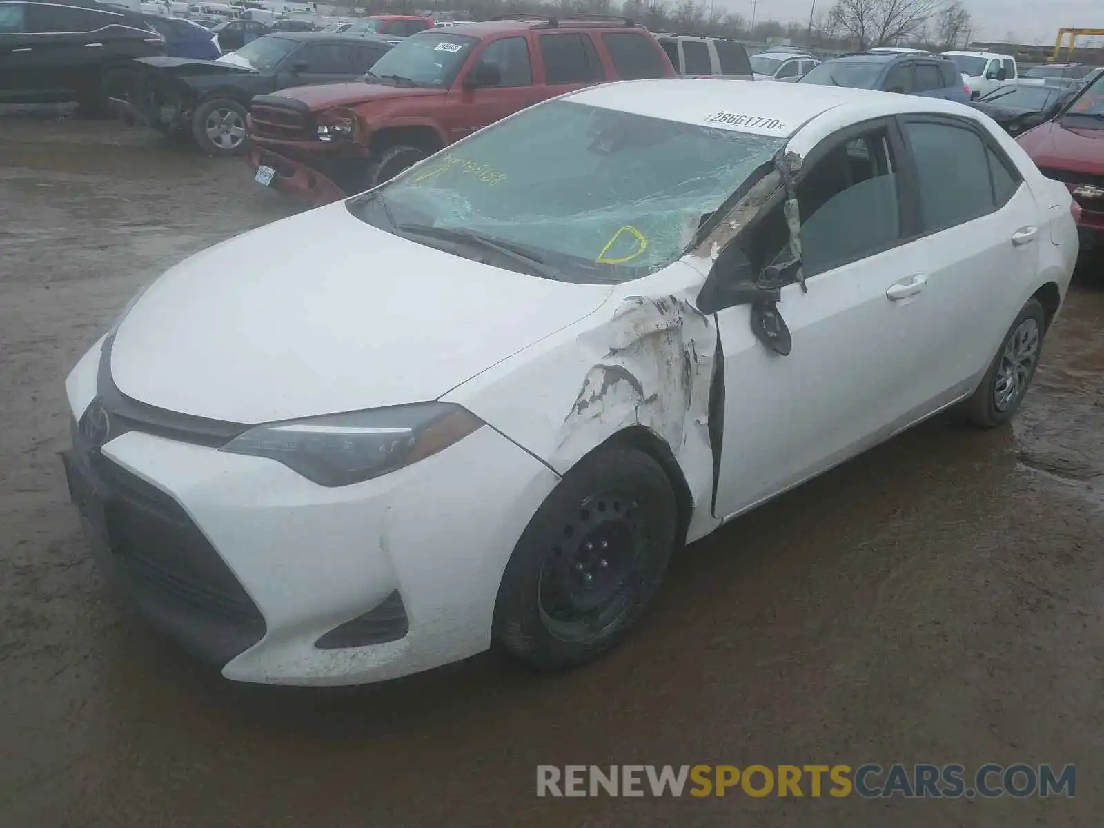
M 838 118 L 858 123 L 883 115 L 949 113 L 972 117 L 963 104 L 921 95 L 898 95 L 849 86 L 813 84 L 734 83 L 726 79 L 655 78 L 590 86 L 563 96 L 572 102 L 617 109 L 683 124 L 712 126 L 718 114 L 732 114 L 761 123 L 781 121 L 771 129 L 742 131 L 788 138 L 807 121 L 829 109 Z M 721 121 L 723 128 L 723 121 Z M 740 130 L 740 127 L 732 127 Z

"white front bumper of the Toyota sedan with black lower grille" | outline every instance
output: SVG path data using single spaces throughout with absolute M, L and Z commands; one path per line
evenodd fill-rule
M 77 418 L 94 384 L 66 384 Z M 135 431 L 65 465 L 100 567 L 146 617 L 229 679 L 288 684 L 380 681 L 486 649 L 506 564 L 559 480 L 490 427 L 341 488 Z M 403 637 L 318 646 L 395 593 Z

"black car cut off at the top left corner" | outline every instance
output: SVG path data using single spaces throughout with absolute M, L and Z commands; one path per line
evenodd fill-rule
M 98 114 L 125 89 L 131 59 L 164 53 L 141 15 L 91 2 L 0 0 L 0 102 L 76 100 Z

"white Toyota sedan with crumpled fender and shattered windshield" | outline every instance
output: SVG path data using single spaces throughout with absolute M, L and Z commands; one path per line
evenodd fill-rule
M 71 492 L 226 678 L 580 664 L 684 542 L 948 406 L 1009 420 L 1071 209 L 934 98 L 574 92 L 169 269 L 66 381 Z

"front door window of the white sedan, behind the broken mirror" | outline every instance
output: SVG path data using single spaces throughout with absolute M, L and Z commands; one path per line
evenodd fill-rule
M 840 144 L 820 158 L 797 185 L 802 219 L 802 266 L 815 276 L 854 262 L 901 241 L 898 177 L 889 136 L 877 129 Z M 782 205 L 753 234 L 749 259 L 756 267 L 784 248 L 789 231 Z M 783 251 L 781 254 L 778 251 Z M 788 275 L 782 279 L 793 280 Z

